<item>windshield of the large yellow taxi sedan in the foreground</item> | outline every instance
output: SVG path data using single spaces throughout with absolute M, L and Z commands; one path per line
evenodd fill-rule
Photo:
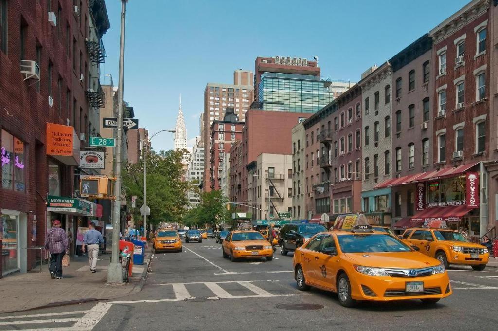
M 343 253 L 410 251 L 408 246 L 385 234 L 344 234 L 337 238 Z

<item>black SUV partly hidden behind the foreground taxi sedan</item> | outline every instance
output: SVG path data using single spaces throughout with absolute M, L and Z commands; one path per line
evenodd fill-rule
M 319 224 L 284 224 L 280 229 L 280 238 L 278 239 L 280 254 L 287 255 L 288 251 L 295 251 L 315 234 L 323 231 L 327 231 L 327 229 Z

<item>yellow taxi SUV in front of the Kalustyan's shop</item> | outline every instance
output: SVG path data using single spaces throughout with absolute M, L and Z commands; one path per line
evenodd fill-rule
M 460 232 L 448 228 L 406 229 L 402 240 L 417 246 L 421 253 L 438 259 L 446 268 L 454 264 L 484 270 L 490 258 L 485 246 L 470 242 Z

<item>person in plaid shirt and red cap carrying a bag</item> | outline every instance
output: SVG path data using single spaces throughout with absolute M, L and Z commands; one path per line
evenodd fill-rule
M 47 231 L 45 248 L 50 253 L 50 278 L 62 278 L 62 258 L 69 247 L 66 231 L 61 229 L 61 221 L 56 219 Z

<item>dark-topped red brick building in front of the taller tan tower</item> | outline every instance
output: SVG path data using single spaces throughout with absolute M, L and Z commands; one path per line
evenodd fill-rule
M 243 127 L 244 122 L 239 122 L 233 107 L 227 107 L 223 121 L 215 120 L 211 124 L 211 146 L 209 148 L 211 152 L 209 158 L 209 184 L 211 190 L 221 188 L 225 153 L 230 151 L 231 144 L 241 140 Z

